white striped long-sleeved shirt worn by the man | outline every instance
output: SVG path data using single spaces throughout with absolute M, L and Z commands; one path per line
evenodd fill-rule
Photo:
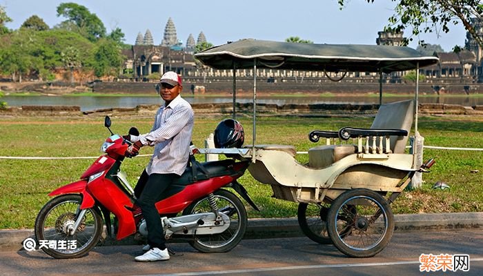
M 151 132 L 139 137 L 131 136 L 132 142 L 139 140 L 144 145 L 155 146 L 151 160 L 146 166 L 148 175 L 181 175 L 184 172 L 188 164 L 194 117 L 190 103 L 178 95 L 168 106 L 163 104 L 159 108 Z

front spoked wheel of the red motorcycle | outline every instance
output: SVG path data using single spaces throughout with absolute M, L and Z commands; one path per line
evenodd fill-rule
M 74 235 L 70 233 L 80 213 L 81 195 L 60 195 L 48 201 L 35 220 L 38 246 L 57 259 L 82 257 L 99 242 L 102 217 L 97 209 L 87 209 Z

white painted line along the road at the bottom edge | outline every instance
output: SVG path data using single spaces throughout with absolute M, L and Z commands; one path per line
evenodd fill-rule
M 470 259 L 470 262 L 482 262 L 483 258 Z M 317 268 L 343 268 L 343 267 L 362 267 L 362 266 L 395 266 L 401 264 L 421 264 L 419 261 L 404 261 L 404 262 L 385 262 L 385 263 L 366 263 L 366 264 L 319 264 L 313 266 L 282 266 L 273 268 L 247 268 L 223 271 L 196 271 L 186 273 L 169 273 L 169 274 L 149 274 L 142 276 L 196 276 L 196 275 L 224 275 L 233 273 L 260 273 L 266 271 L 282 271 L 282 270 L 297 270 L 297 269 L 317 269 Z

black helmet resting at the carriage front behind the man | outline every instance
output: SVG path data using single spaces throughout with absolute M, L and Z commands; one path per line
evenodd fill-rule
M 224 119 L 215 129 L 215 148 L 241 148 L 244 140 L 243 126 L 237 120 Z

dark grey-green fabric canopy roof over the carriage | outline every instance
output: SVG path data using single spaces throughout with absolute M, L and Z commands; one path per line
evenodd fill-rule
M 326 72 L 394 72 L 437 63 L 404 46 L 306 44 L 242 39 L 195 55 L 215 69 L 276 68 Z

